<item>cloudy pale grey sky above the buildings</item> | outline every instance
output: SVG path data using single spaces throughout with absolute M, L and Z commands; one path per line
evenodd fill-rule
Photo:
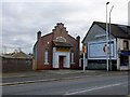
M 106 22 L 106 2 L 112 11 L 112 23 L 128 25 L 129 0 L 3 0 L 0 1 L 1 53 L 21 47 L 32 53 L 37 32 L 52 32 L 56 23 L 63 23 L 73 37 L 81 41 L 93 22 Z

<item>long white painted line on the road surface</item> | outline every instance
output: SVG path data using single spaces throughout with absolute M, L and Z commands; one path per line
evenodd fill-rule
M 113 86 L 118 86 L 125 83 L 116 83 L 116 84 L 109 84 L 109 85 L 105 85 L 105 86 L 95 86 L 89 89 L 83 89 L 83 91 L 78 91 L 78 92 L 73 92 L 73 93 L 66 93 L 64 95 L 76 95 L 76 94 L 81 94 L 81 93 L 87 93 L 87 92 L 91 92 L 91 91 L 96 91 L 96 89 L 102 89 L 102 88 L 107 88 L 107 87 L 113 87 Z

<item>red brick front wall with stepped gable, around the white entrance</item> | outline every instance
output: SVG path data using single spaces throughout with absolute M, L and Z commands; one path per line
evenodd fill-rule
M 64 24 L 58 23 L 52 29 L 52 32 L 41 37 L 41 32 L 37 33 L 37 69 L 52 69 L 52 61 L 53 61 L 53 40 L 56 40 L 57 37 L 63 37 L 66 39 L 66 42 L 69 43 L 73 47 L 70 51 L 74 51 L 74 63 L 75 65 L 70 65 L 72 69 L 79 68 L 79 44 L 80 44 L 80 37 L 77 39 L 73 38 L 66 31 L 66 27 Z M 46 50 L 49 51 L 49 65 L 44 65 L 44 52 Z

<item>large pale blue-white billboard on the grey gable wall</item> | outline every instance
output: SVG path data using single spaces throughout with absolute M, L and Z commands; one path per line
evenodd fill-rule
M 108 43 L 108 54 L 109 50 L 110 56 L 113 59 L 116 58 L 116 41 L 110 42 L 110 47 Z M 106 59 L 106 42 L 105 41 L 99 41 L 99 42 L 89 42 L 88 43 L 88 59 Z M 109 56 L 109 55 L 108 55 Z

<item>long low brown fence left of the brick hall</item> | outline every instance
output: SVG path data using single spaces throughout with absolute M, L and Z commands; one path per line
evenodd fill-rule
M 2 57 L 2 72 L 21 72 L 32 70 L 32 58 Z

